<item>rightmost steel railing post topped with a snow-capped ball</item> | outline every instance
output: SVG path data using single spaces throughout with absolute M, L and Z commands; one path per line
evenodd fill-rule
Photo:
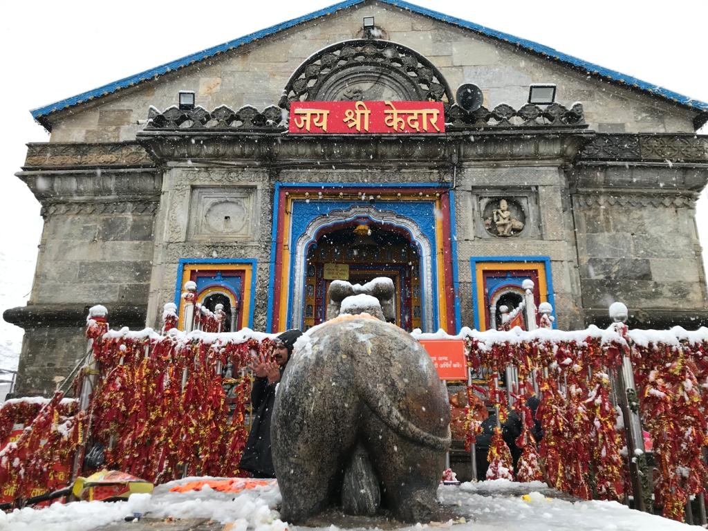
M 623 338 L 627 338 L 627 317 L 629 312 L 622 302 L 610 304 L 610 318 L 612 327 Z M 632 360 L 626 354 L 622 355 L 622 366 L 617 370 L 617 401 L 622 409 L 624 418 L 624 430 L 627 438 L 627 453 L 629 454 L 629 479 L 632 481 L 632 493 L 634 495 L 634 508 L 646 511 L 644 503 L 644 491 L 641 488 L 641 470 L 639 469 L 639 457 L 644 456 L 644 437 L 641 433 L 641 420 L 639 418 L 639 403 L 636 401 L 636 384 L 634 383 L 634 371 L 632 370 Z M 634 398 L 631 398 L 634 397 Z M 638 455 L 639 454 L 639 455 Z M 646 457 L 642 457 L 642 460 Z

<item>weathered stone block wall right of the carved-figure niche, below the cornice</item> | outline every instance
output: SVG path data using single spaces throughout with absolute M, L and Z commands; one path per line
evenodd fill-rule
M 630 166 L 586 169 L 573 177 L 578 184 L 573 193 L 578 265 L 588 315 L 621 301 L 649 328 L 665 324 L 652 314 L 666 309 L 676 312 L 673 324 L 698 326 L 680 322 L 682 312 L 704 313 L 708 307 L 695 226 L 697 194 L 686 171 Z M 636 185 L 652 181 L 661 185 Z

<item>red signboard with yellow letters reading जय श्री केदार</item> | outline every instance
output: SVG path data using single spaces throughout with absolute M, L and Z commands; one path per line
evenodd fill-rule
M 440 101 L 293 101 L 292 133 L 442 133 Z

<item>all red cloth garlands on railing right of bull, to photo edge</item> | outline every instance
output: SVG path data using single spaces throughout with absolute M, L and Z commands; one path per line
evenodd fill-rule
M 520 384 L 535 377 L 541 398 L 536 415 L 544 432 L 539 456 L 549 485 L 582 498 L 619 500 L 627 484 L 626 445 L 617 429 L 610 380 L 631 351 L 641 420 L 654 441 L 663 514 L 682 520 L 689 496 L 704 493 L 708 477 L 702 459 L 708 446 L 706 333 L 672 329 L 656 332 L 666 338 L 652 343 L 644 331 L 634 336 L 622 324 L 598 332 L 578 341 L 549 339 L 543 332 L 520 339 L 514 331 L 495 331 L 488 340 L 472 331 L 468 363 L 476 370 L 513 365 Z M 490 382 L 491 401 L 500 403 L 498 393 Z M 523 446 L 526 441 L 523 433 L 518 442 L 524 451 L 530 446 Z M 490 451 L 490 459 L 499 453 Z

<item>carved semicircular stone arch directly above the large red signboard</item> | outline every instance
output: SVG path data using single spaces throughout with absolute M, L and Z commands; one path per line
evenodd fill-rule
M 450 86 L 411 48 L 388 40 L 346 40 L 316 52 L 287 81 L 280 107 L 291 101 L 447 101 Z

